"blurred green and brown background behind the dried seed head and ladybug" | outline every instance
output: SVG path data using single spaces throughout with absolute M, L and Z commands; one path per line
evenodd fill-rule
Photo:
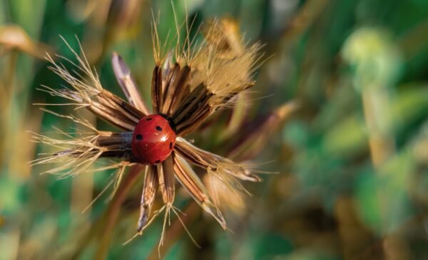
M 272 174 L 245 184 L 252 197 L 223 194 L 230 231 L 178 191 L 175 206 L 200 248 L 173 218 L 161 256 L 427 259 L 428 1 L 173 2 L 193 28 L 225 18 L 265 44 L 254 89 L 192 138 Z M 114 171 L 60 179 L 29 164 L 51 151 L 29 131 L 75 131 L 32 105 L 63 102 L 36 90 L 63 84 L 46 52 L 74 59 L 59 36 L 76 50 L 79 39 L 104 88 L 122 95 L 110 64 L 117 51 L 149 101 L 152 14 L 165 39 L 175 29 L 170 1 L 0 0 L 0 259 L 158 259 L 161 218 L 123 245 L 136 229 L 143 174 L 123 198 L 107 189 L 91 204 Z

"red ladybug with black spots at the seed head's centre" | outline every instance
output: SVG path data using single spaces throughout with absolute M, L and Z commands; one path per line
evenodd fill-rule
M 133 131 L 132 154 L 141 164 L 159 164 L 175 146 L 175 131 L 168 119 L 158 114 L 144 116 Z

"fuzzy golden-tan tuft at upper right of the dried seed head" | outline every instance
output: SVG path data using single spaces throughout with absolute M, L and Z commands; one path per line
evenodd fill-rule
M 208 44 L 194 61 L 194 78 L 203 81 L 210 93 L 210 106 L 224 106 L 230 98 L 252 86 L 251 74 L 260 59 L 260 44 L 246 47 L 243 39 L 232 40 L 225 24 L 214 21 L 205 29 Z M 236 36 L 236 32 L 234 32 Z M 236 41 L 235 44 L 232 41 Z M 232 45 L 241 45 L 232 47 Z M 195 82 L 198 84 L 198 82 Z

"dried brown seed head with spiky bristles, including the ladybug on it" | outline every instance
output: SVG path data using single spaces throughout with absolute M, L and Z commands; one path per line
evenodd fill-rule
M 85 171 L 99 158 L 110 158 L 111 165 L 103 169 L 119 169 L 115 190 L 127 166 L 145 164 L 137 234 L 141 234 L 163 209 L 164 227 L 170 210 L 176 214 L 173 206 L 175 179 L 225 229 L 225 219 L 212 199 L 213 194 L 210 195 L 190 164 L 202 167 L 217 180 L 216 185 L 222 184 L 231 191 L 243 189 L 238 179 L 260 179 L 245 166 L 199 149 L 184 138 L 198 129 L 208 116 L 230 106 L 236 95 L 254 85 L 250 78 L 260 57 L 260 45 L 245 46 L 243 39 L 239 39 L 243 49 L 234 51 L 236 48 L 232 48 L 230 35 L 225 34 L 222 28 L 217 21 L 210 22 L 204 31 L 205 41 L 200 43 L 190 40 L 187 31 L 185 44 L 177 44 L 175 50 L 165 51 L 165 46 L 158 39 L 156 26 L 153 27 L 156 66 L 151 81 L 152 109 L 141 98 L 128 66 L 118 54 L 112 56 L 113 70 L 128 101 L 103 89 L 84 54 L 80 57 L 70 48 L 78 61 L 74 64 L 67 60 L 76 67 L 73 71 L 68 71 L 49 56 L 51 69 L 70 87 L 57 90 L 44 86 L 42 90 L 68 99 L 71 102 L 67 104 L 78 109 L 88 109 L 122 131 L 99 131 L 84 119 L 63 116 L 89 131 L 71 135 L 58 130 L 63 139 L 36 134 L 36 141 L 54 146 L 59 151 L 36 159 L 34 164 L 61 163 L 48 172 L 72 176 Z M 177 31 L 179 41 L 179 29 Z M 164 206 L 152 213 L 158 190 Z

